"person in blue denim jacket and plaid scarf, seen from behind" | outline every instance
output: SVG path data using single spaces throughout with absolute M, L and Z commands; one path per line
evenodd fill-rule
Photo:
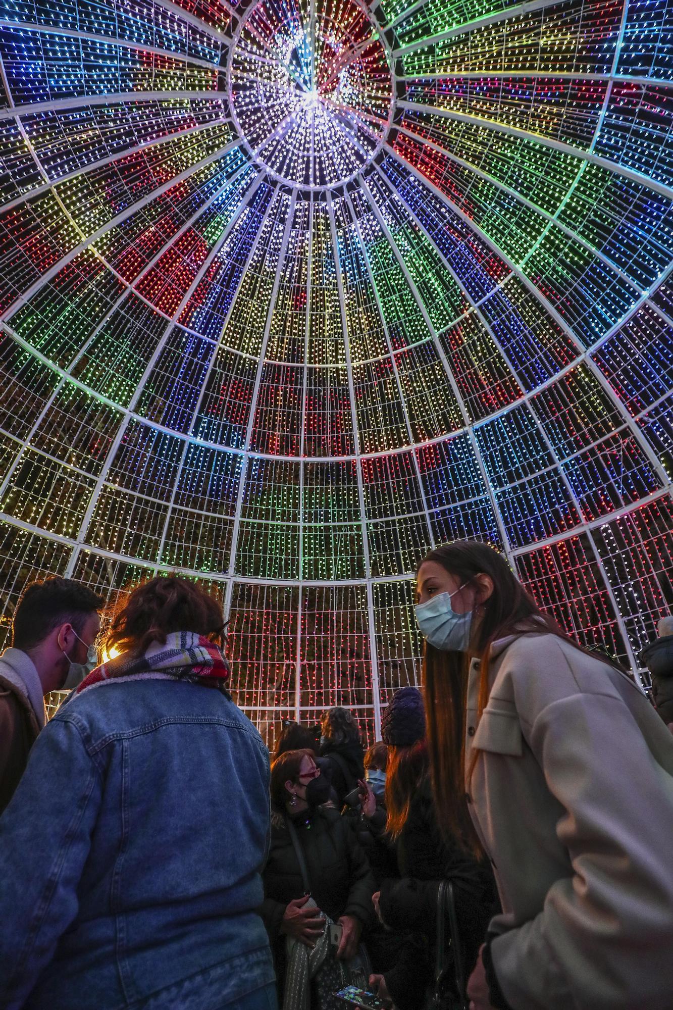
M 269 754 L 222 636 L 213 599 L 154 579 L 40 733 L 0 818 L 2 1010 L 275 1010 Z

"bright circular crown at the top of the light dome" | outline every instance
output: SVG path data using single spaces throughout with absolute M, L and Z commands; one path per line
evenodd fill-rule
M 251 157 L 306 189 L 353 179 L 392 120 L 381 32 L 355 0 L 280 10 L 261 0 L 236 31 L 227 84 Z

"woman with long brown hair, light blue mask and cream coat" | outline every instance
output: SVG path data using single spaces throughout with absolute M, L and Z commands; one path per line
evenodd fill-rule
M 474 1010 L 670 1010 L 673 740 L 506 561 L 457 541 L 417 572 L 440 816 L 491 858 L 503 914 Z

